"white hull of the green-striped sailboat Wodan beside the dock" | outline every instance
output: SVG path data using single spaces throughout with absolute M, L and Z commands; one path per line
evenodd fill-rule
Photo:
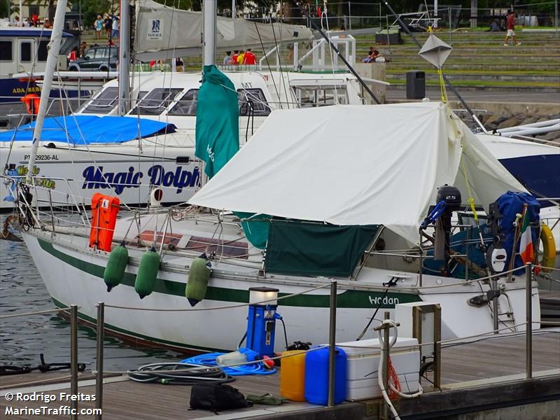
M 238 278 L 213 276 L 206 299 L 192 308 L 183 294 L 188 277 L 184 269 L 160 269 L 155 291 L 140 300 L 134 291 L 134 276 L 137 272 L 134 259 L 127 267 L 123 283 L 107 293 L 102 279 L 107 253 L 80 248 L 77 244 L 69 246 L 57 241 L 56 237 L 53 239 L 50 233 L 37 230 L 24 232 L 23 237 L 54 302 L 59 307 L 78 304 L 80 318 L 90 323 L 96 320 L 97 302 L 105 302 L 106 329 L 125 339 L 191 351 L 232 350 L 246 331 L 248 288 L 270 286 L 279 288 L 281 295 L 293 294 L 321 285 L 322 281 L 324 288 L 280 300 L 278 311 L 286 322 L 290 342 L 302 340 L 321 344 L 328 341 L 328 279 L 288 282 L 256 279 L 249 275 Z M 435 285 L 436 280 L 435 276 L 424 276 L 426 284 Z M 481 294 L 478 283 L 455 288 L 426 289 L 426 293 L 395 288 L 386 296 L 379 287 L 368 290 L 367 286 L 356 283 L 356 287 L 352 288 L 347 283 L 341 284 L 337 297 L 337 340 L 340 342 L 356 339 L 377 307 L 379 312 L 376 318 L 380 319 L 384 311 L 394 316 L 397 303 L 421 300 L 442 305 L 444 338 L 465 337 L 492 330 L 489 309 L 472 307 L 466 303 L 470 297 Z M 524 296 L 522 287 L 507 291 L 512 318 L 518 322 L 524 320 Z M 221 309 L 223 307 L 226 309 Z M 540 320 L 536 283 L 533 285 L 533 319 Z M 538 328 L 538 324 L 535 328 Z M 512 329 L 524 330 L 523 326 Z M 285 346 L 282 335 L 281 331 L 277 331 L 277 351 Z M 365 337 L 374 337 L 374 332 L 368 331 Z

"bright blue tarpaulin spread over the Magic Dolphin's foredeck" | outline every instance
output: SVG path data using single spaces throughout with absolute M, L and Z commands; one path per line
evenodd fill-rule
M 0 133 L 0 141 L 12 141 L 14 134 L 14 141 L 31 141 L 34 127 L 35 122 L 22 125 L 18 130 Z M 76 145 L 112 144 L 174 130 L 175 126 L 172 124 L 137 117 L 50 117 L 45 118 L 41 141 L 61 141 Z

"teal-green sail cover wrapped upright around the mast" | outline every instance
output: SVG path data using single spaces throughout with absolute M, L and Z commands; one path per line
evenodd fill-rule
M 204 66 L 197 96 L 195 156 L 209 178 L 239 151 L 239 109 L 232 81 L 216 66 Z

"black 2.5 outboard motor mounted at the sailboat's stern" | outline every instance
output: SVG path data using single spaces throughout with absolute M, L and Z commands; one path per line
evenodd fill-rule
M 441 204 L 443 203 L 443 204 Z M 451 235 L 451 215 L 461 209 L 461 191 L 454 186 L 437 189 L 437 206 L 442 207 L 440 216 L 435 221 L 434 260 L 444 261 L 442 275 L 449 276 L 449 236 Z

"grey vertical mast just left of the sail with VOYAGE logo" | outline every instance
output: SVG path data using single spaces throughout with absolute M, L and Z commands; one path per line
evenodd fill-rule
M 120 0 L 118 64 L 118 113 L 123 116 L 130 105 L 130 0 Z

